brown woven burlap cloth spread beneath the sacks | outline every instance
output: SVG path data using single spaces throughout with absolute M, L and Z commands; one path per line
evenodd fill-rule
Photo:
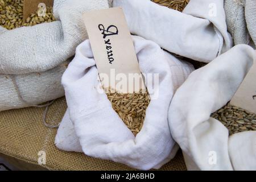
M 49 106 L 47 122 L 56 125 L 61 121 L 67 105 L 65 98 Z M 46 165 L 51 170 L 133 170 L 123 164 L 90 158 L 76 152 L 64 152 L 54 145 L 57 129 L 49 129 L 42 121 L 44 108 L 2 111 L 0 113 L 0 153 L 38 165 L 38 152 L 46 152 Z M 183 156 L 176 157 L 161 170 L 186 170 Z

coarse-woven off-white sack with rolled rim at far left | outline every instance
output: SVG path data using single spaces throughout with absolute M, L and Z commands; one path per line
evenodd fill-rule
M 88 39 L 81 15 L 84 11 L 108 8 L 107 0 L 54 2 L 55 22 L 15 30 L 0 26 L 0 111 L 64 96 L 60 84 L 63 64 Z

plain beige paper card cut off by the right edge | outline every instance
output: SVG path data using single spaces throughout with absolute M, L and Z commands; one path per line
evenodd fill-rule
M 256 114 L 256 63 L 247 73 L 230 104 Z

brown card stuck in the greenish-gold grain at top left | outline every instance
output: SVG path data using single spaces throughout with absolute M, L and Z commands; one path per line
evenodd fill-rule
M 40 8 L 38 16 L 44 16 L 46 7 L 53 6 L 53 0 L 23 0 L 23 22 Z

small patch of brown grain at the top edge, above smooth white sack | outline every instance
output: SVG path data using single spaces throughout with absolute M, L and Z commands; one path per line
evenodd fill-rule
M 167 6 L 177 11 L 183 11 L 189 3 L 189 0 L 152 0 L 152 2 L 158 3 L 162 6 Z

